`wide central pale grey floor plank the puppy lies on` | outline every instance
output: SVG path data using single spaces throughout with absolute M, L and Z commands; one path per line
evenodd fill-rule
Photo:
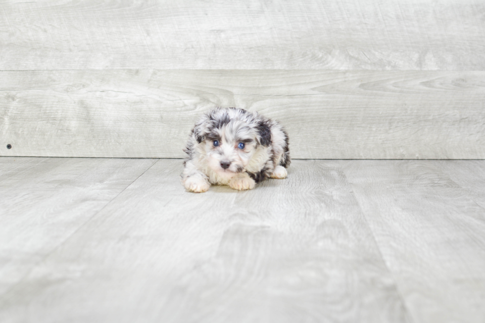
M 410 322 L 338 167 L 186 192 L 159 160 L 0 301 L 2 322 Z

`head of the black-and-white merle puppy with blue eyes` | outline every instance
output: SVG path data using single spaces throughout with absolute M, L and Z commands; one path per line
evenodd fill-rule
M 244 172 L 258 146 L 271 143 L 269 126 L 257 114 L 236 108 L 204 115 L 194 127 L 194 137 L 204 149 L 207 166 L 225 178 Z

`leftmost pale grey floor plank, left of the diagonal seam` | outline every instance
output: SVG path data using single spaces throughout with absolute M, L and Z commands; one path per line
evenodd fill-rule
M 1 157 L 0 295 L 154 162 Z

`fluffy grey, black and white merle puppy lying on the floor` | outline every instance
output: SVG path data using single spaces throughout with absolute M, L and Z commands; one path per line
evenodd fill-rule
M 216 108 L 204 114 L 184 151 L 182 183 L 191 192 L 205 192 L 211 184 L 252 189 L 268 177 L 286 178 L 291 162 L 283 127 L 238 108 Z

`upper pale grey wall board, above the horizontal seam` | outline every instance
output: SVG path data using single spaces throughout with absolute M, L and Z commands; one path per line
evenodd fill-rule
M 2 1 L 0 70 L 484 70 L 481 0 Z

